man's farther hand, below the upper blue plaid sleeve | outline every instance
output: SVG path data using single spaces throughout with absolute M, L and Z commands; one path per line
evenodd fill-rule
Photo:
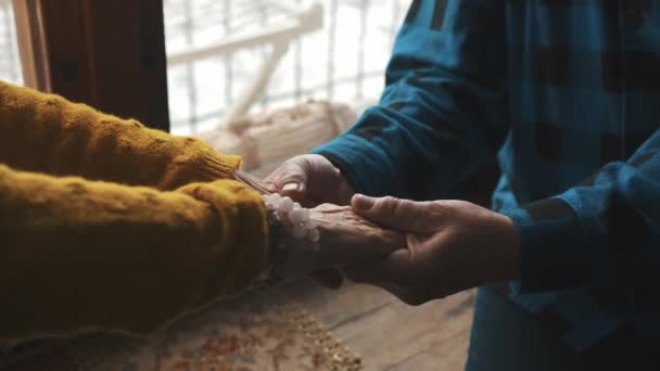
M 305 207 L 326 203 L 348 205 L 355 194 L 341 171 L 328 158 L 317 154 L 288 159 L 264 181 Z

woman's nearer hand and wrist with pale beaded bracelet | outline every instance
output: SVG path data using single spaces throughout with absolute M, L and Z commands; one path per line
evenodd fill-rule
M 305 209 L 290 197 L 264 197 L 275 227 L 274 273 L 283 280 L 310 274 L 319 283 L 341 285 L 339 269 L 382 259 L 405 246 L 399 232 L 356 215 L 350 206 L 331 204 Z

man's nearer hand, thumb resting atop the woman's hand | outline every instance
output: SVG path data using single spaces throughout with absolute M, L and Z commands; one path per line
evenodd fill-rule
M 420 305 L 478 285 L 516 279 L 520 247 L 512 221 L 462 201 L 412 202 L 355 195 L 356 214 L 407 233 L 407 247 L 345 270 L 356 282 Z

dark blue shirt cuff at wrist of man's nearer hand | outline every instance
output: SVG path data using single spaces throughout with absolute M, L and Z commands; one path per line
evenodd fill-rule
M 519 233 L 522 294 L 572 289 L 585 280 L 594 252 L 568 202 L 545 199 L 502 214 Z

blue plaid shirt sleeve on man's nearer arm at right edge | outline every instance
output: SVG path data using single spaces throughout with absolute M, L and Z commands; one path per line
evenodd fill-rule
M 559 195 L 503 212 L 520 234 L 520 290 L 585 285 L 637 299 L 657 293 L 658 205 L 660 129 L 627 162 L 610 163 Z

